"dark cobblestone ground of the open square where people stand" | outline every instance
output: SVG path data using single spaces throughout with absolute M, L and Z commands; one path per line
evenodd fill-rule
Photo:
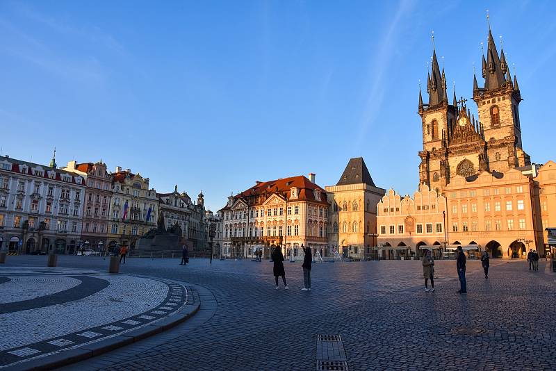
M 467 295 L 455 293 L 455 261 L 436 262 L 436 292 L 423 290 L 418 261 L 313 264 L 311 292 L 300 290 L 300 263 L 285 263 L 290 290 L 275 290 L 268 261 L 191 262 L 130 258 L 122 271 L 195 283 L 213 307 L 202 297 L 193 320 L 68 370 L 314 370 L 319 334 L 341 335 L 350 370 L 556 368 L 556 275 L 544 261 L 533 272 L 492 260 L 488 280 L 469 261 Z M 107 265 L 71 256 L 58 264 Z

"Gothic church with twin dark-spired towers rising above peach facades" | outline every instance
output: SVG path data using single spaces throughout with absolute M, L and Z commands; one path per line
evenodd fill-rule
M 504 51 L 500 56 L 489 30 L 486 59 L 482 57 L 484 87 L 473 75 L 473 101 L 479 117 L 470 115 L 466 99 L 454 92 L 448 103 L 444 67 L 442 72 L 432 51 L 432 72 L 427 76 L 428 104 L 419 90 L 419 115 L 423 124 L 423 151 L 419 152 L 420 183 L 444 193 L 455 175 L 473 176 L 483 171 L 506 172 L 530 165 L 521 145 L 519 102 L 521 94 L 516 76 L 512 82 Z

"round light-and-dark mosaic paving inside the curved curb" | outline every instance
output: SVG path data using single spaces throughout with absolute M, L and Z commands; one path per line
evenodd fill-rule
M 187 300 L 178 283 L 128 274 L 1 267 L 0 277 L 0 368 L 126 333 Z

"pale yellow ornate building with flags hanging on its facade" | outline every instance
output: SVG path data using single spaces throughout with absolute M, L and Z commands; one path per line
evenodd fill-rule
M 112 202 L 108 247 L 134 249 L 140 238 L 156 227 L 158 198 L 156 190 L 149 189 L 149 178 L 133 174 L 131 170 L 116 167 L 112 176 Z

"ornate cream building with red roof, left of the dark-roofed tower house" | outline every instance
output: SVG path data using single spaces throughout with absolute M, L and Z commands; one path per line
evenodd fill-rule
M 254 256 L 261 249 L 268 258 L 271 247 L 284 256 L 302 259 L 301 245 L 325 254 L 328 206 L 326 191 L 315 175 L 258 181 L 251 188 L 228 197 L 221 209 L 223 256 Z

